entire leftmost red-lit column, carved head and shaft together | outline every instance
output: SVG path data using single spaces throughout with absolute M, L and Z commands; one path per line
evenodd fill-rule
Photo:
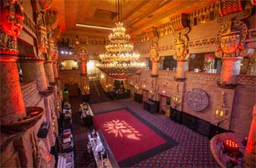
M 16 64 L 17 37 L 23 28 L 24 17 L 22 1 L 0 1 L 0 7 L 1 124 L 7 124 L 26 116 Z

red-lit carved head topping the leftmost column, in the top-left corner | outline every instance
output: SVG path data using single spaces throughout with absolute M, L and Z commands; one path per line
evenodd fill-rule
M 23 28 L 23 1 L 1 0 L 0 1 L 0 29 L 16 39 Z

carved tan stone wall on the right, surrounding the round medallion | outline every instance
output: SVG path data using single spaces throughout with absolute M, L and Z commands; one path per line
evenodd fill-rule
M 140 77 L 138 78 L 138 75 L 131 76 L 129 84 L 131 87 L 140 84 L 140 88 L 148 92 L 151 88 L 150 73 L 150 70 L 140 71 Z M 217 87 L 219 74 L 188 72 L 186 81 L 174 81 L 175 75 L 175 71 L 159 71 L 156 87 L 158 88 L 159 97 L 160 95 L 170 98 L 178 96 L 181 98 L 181 103 L 176 106 L 176 109 L 216 125 L 217 121 L 214 119 L 213 113 L 222 105 L 222 95 L 224 93 L 227 121 L 223 122 L 220 127 L 233 132 L 248 134 L 250 121 L 252 120 L 252 115 L 250 114 L 256 101 L 255 76 L 238 76 L 238 87 L 236 89 L 222 89 Z M 195 88 L 203 89 L 208 95 L 208 106 L 200 112 L 189 108 L 186 101 L 187 93 Z M 171 106 L 175 107 L 172 99 Z

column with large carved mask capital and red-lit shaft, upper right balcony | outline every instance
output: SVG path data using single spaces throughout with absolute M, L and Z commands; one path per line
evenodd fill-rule
M 219 87 L 236 87 L 238 84 L 241 60 L 254 52 L 254 49 L 244 48 L 246 34 L 247 27 L 239 20 L 222 23 L 218 33 L 219 50 L 216 52 L 217 57 L 222 58 Z

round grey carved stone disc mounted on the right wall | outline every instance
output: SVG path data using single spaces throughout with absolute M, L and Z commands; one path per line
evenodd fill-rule
M 187 105 L 193 111 L 203 111 L 209 104 L 209 98 L 203 89 L 192 89 L 187 92 Z

